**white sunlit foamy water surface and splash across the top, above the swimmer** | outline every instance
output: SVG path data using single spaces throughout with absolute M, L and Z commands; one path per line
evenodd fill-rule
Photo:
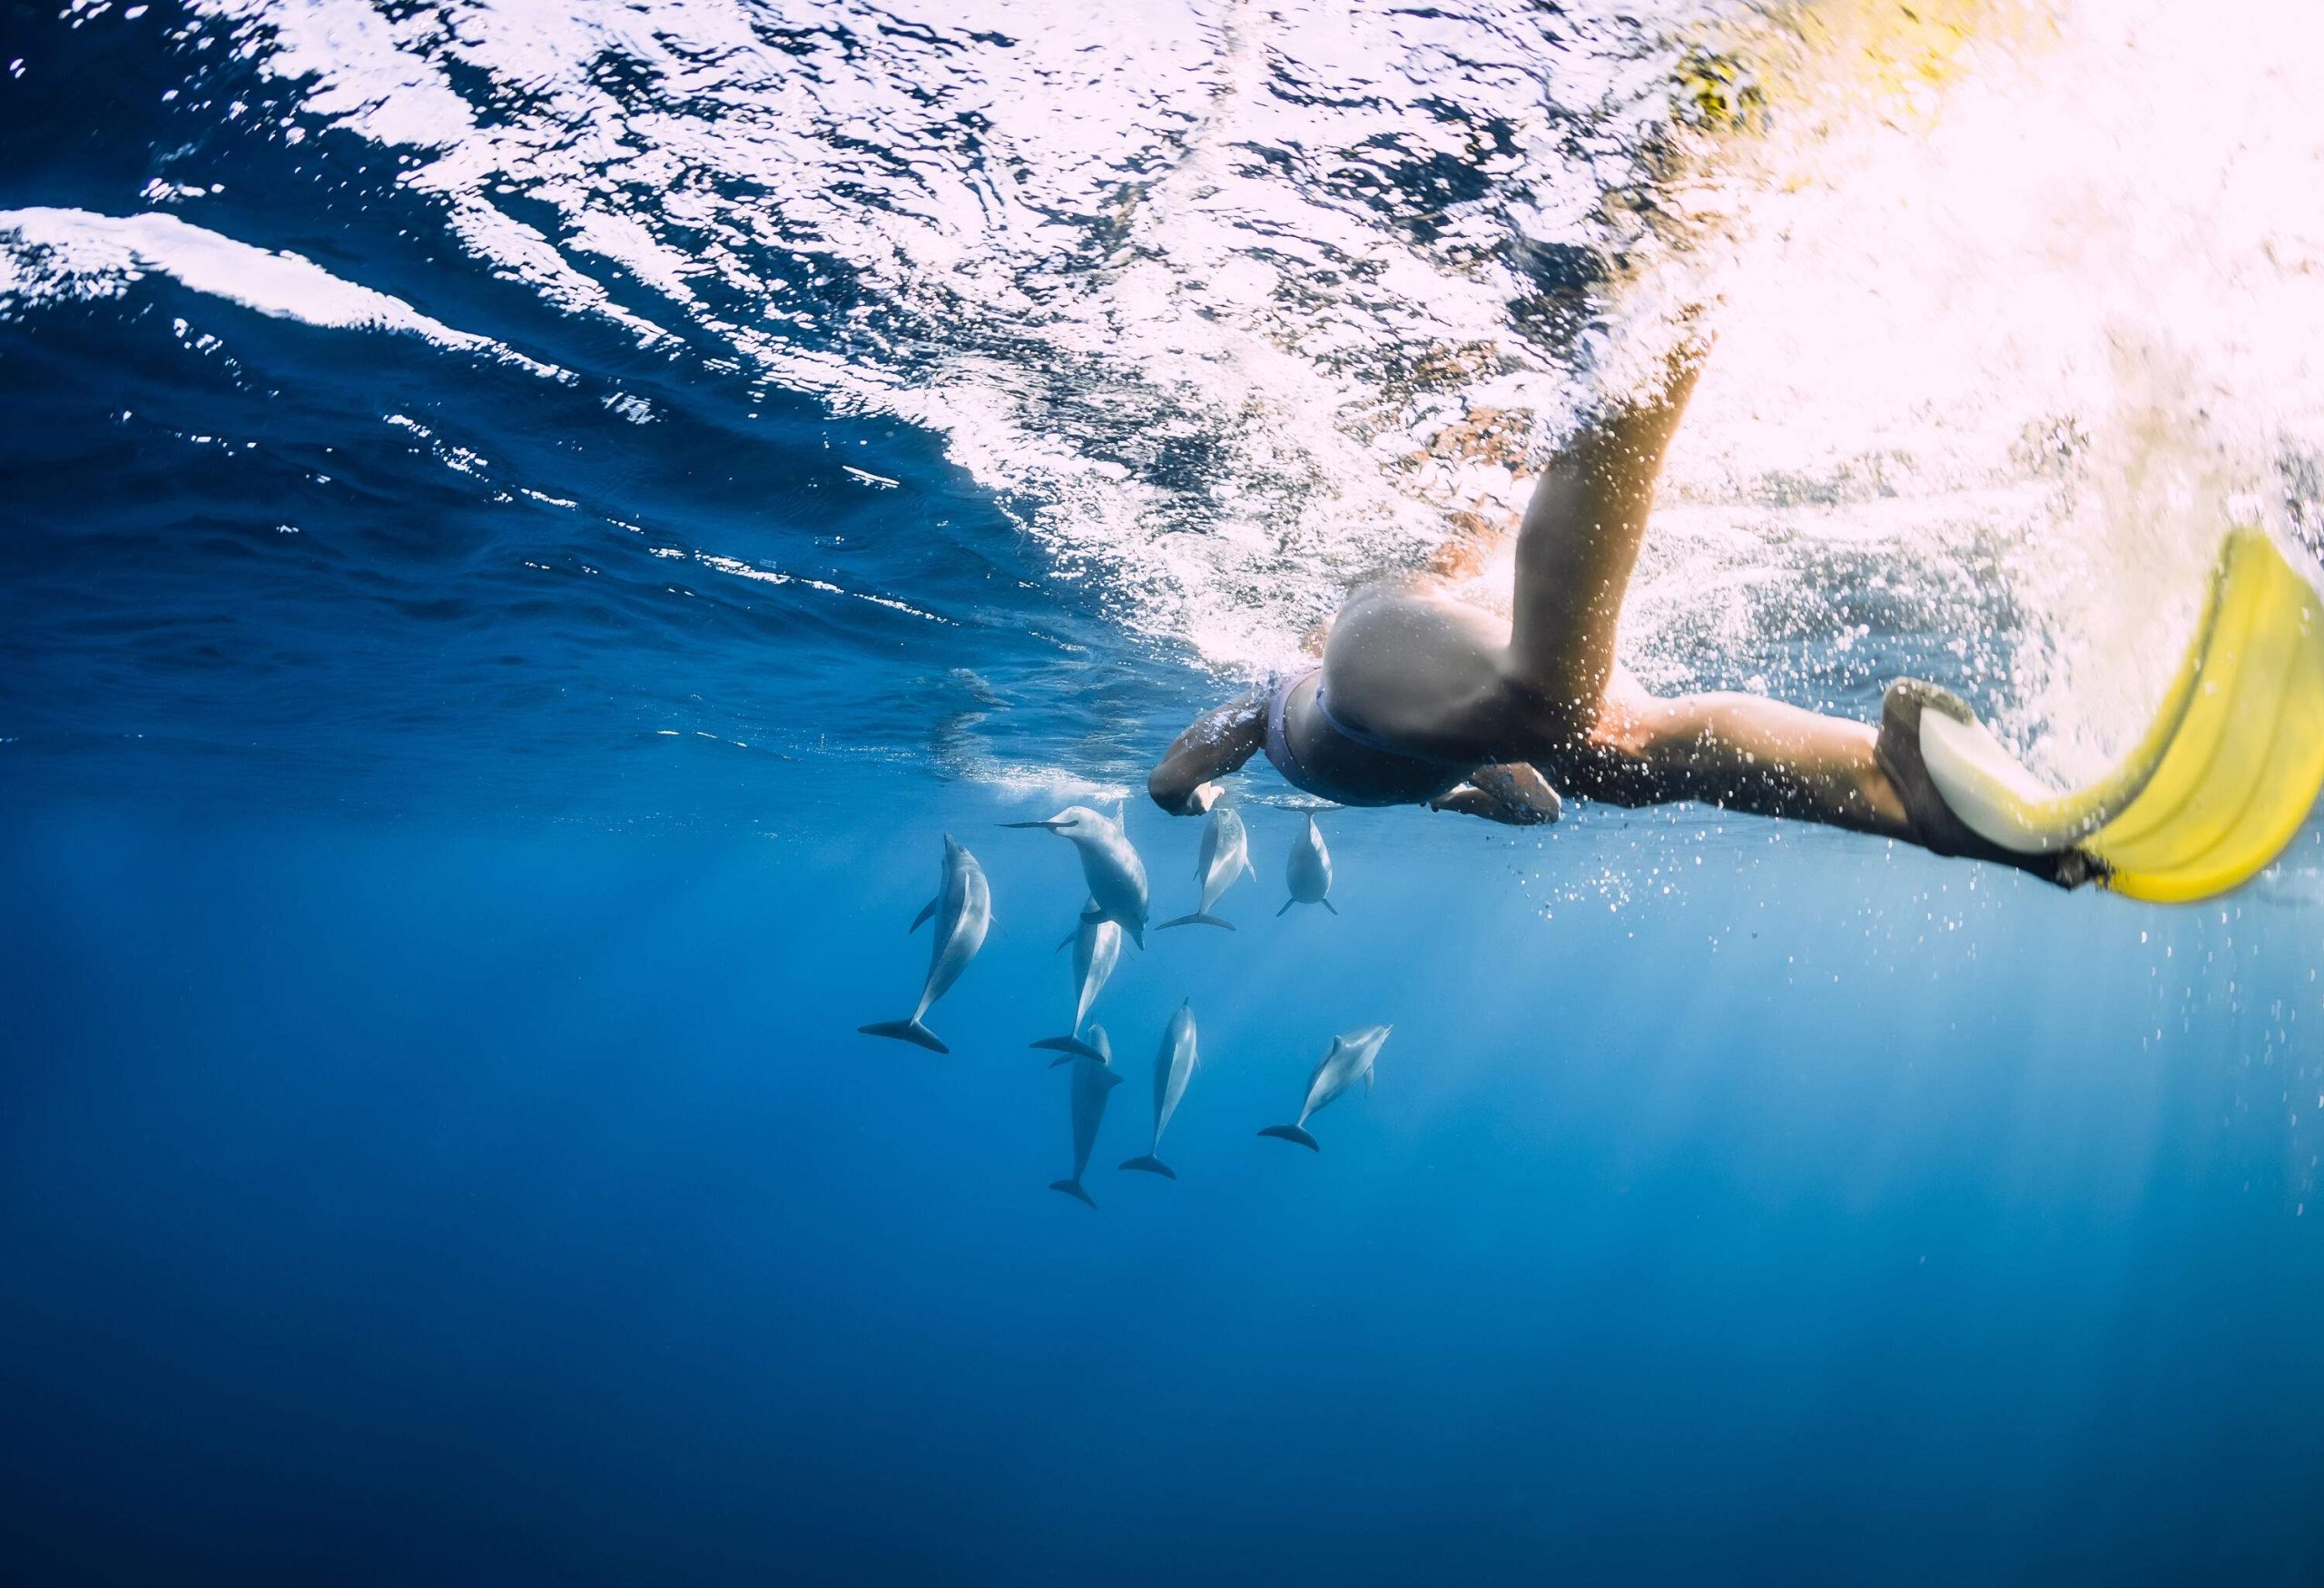
M 1222 674 L 1448 528 L 1506 528 L 1576 372 L 1620 379 L 1652 344 L 1624 328 L 1703 302 L 1720 346 L 1624 630 L 1655 684 L 1862 711 L 1931 672 L 2085 774 L 2217 532 L 2317 514 L 2305 7 L 195 26 L 288 86 L 284 140 L 393 151 L 541 300 L 941 432 L 1060 579 Z

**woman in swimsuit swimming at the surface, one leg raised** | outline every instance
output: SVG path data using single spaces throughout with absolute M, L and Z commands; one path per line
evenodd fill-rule
M 1322 665 L 1178 735 L 1148 777 L 1155 804 L 1206 811 L 1215 779 L 1264 751 L 1285 781 L 1339 804 L 1525 825 L 1557 818 L 1557 788 L 1701 800 L 2087 881 L 2096 867 L 2078 849 L 2015 853 L 1948 809 L 1920 753 L 1922 709 L 1966 716 L 1941 688 L 1899 681 L 1873 730 L 1762 695 L 1650 695 L 1615 663 L 1655 477 L 1703 353 L 1676 353 L 1643 398 L 1601 402 L 1550 460 L 1518 528 L 1508 621 L 1425 574 L 1355 591 Z

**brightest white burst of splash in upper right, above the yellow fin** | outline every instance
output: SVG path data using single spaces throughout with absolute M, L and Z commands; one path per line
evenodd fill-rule
M 1690 191 L 1729 246 L 1657 281 L 1724 300 L 1673 495 L 1776 542 L 1887 518 L 1922 609 L 1978 614 L 1948 681 L 2087 777 L 2159 698 L 2219 535 L 2315 518 L 2324 135 L 2296 63 L 2324 16 L 1806 7 L 1752 44 L 1759 130 Z

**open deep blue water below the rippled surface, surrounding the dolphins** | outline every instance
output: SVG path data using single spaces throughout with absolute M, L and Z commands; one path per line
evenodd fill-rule
M 2312 1169 L 2222 995 L 2296 918 L 1787 839 L 1543 921 L 1529 844 L 1341 821 L 1339 918 L 1246 884 L 1099 1000 L 1090 1214 L 1064 846 L 862 793 L 12 823 L 19 1579 L 2315 1579 Z M 851 1030 L 937 818 L 1002 921 L 944 1060 Z M 1118 1174 L 1181 995 L 1181 1179 Z M 1253 1135 L 1376 1018 L 1320 1156 Z

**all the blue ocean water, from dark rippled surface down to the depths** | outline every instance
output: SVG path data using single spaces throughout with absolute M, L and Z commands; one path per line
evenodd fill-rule
M 641 342 L 495 265 L 328 72 L 270 67 L 300 16 L 451 53 L 172 5 L 19 9 L 0 51 L 7 1581 L 2324 1581 L 2315 832 L 2150 909 L 1694 807 L 1327 809 L 1339 914 L 1278 918 L 1308 804 L 1260 767 L 1239 930 L 1153 932 L 1097 1002 L 1092 1214 L 1027 1046 L 1081 874 L 997 823 L 1127 795 L 1192 909 L 1202 828 L 1139 779 L 1250 658 L 1062 542 L 1071 479 L 739 353 L 716 272 L 665 314 L 602 267 Z M 737 16 L 825 84 L 1009 44 Z M 590 79 L 690 114 L 625 58 Z M 537 88 L 444 81 L 479 126 Z M 1459 81 L 1429 126 L 1508 142 Z M 1415 246 L 1541 200 L 1348 146 L 1387 174 L 1313 181 Z M 507 212 L 560 235 L 541 202 Z M 474 342 L 205 274 L 179 226 Z M 1171 535 L 1304 491 L 1160 386 L 1074 407 L 1102 367 L 806 263 L 788 346 L 1055 377 L 1004 428 Z M 1518 319 L 1555 377 L 1571 328 Z M 1350 572 L 1301 532 L 1253 632 Z M 1957 677 L 1961 607 L 1885 556 L 1813 544 L 1664 665 L 1857 716 Z M 855 1028 L 911 1009 L 946 832 L 995 932 L 932 1056 Z M 1181 1000 L 1178 1181 L 1120 1174 Z M 1260 1139 L 1369 1023 L 1322 1151 Z

